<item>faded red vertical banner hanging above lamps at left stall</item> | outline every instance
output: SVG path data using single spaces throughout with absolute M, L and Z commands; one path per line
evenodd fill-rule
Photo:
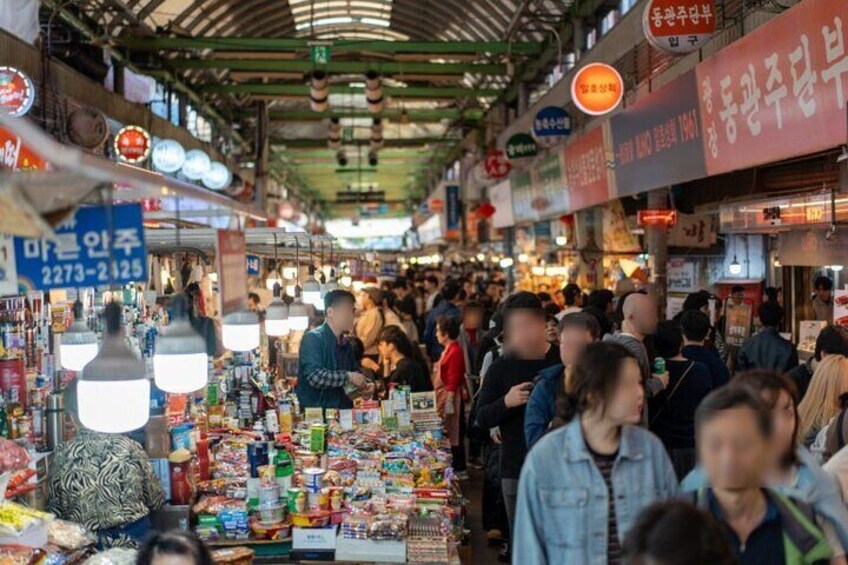
M 244 232 L 218 230 L 215 266 L 218 270 L 218 301 L 221 315 L 247 308 L 247 243 Z

